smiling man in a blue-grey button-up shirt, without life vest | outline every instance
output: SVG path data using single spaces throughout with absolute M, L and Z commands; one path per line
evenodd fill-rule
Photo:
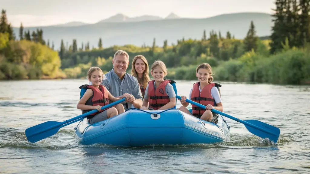
M 129 55 L 126 51 L 118 50 L 115 52 L 113 69 L 105 74 L 102 83 L 107 90 L 114 96 L 123 96 L 125 93 L 131 94 L 131 100 L 123 103 L 125 110 L 131 107 L 139 108 L 142 106 L 143 97 L 138 80 L 126 73 L 129 65 Z

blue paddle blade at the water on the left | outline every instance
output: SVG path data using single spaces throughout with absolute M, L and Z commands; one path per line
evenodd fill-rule
M 44 138 L 47 138 L 49 136 L 54 135 L 55 133 L 58 132 L 58 130 L 60 129 L 60 126 L 56 127 L 56 128 L 52 128 L 50 130 L 44 131 L 42 133 L 38 133 L 39 131 L 54 126 L 56 124 L 59 124 L 60 122 L 58 121 L 47 121 L 38 125 L 35 125 L 33 127 L 27 128 L 25 133 L 26 133 L 26 137 L 28 139 L 29 142 L 37 142 L 40 141 Z

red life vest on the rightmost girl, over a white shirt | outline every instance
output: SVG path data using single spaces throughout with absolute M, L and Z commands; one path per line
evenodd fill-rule
M 199 85 L 200 85 L 200 82 L 194 83 L 193 90 L 191 93 L 191 100 L 194 102 L 200 103 L 202 105 L 205 105 L 205 106 L 207 106 L 208 104 L 210 104 L 211 106 L 216 106 L 214 98 L 211 95 L 211 89 L 215 85 L 218 85 L 218 86 L 221 86 L 221 85 L 210 83 L 206 85 L 201 90 L 201 92 L 199 91 Z M 202 115 L 205 111 L 206 109 L 202 109 L 192 104 L 192 114 Z

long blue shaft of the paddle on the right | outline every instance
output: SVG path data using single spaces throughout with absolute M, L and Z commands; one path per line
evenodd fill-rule
M 181 100 L 181 97 L 178 96 L 178 95 L 176 96 L 176 98 L 178 98 L 178 99 Z M 196 105 L 196 106 L 198 106 L 198 107 L 201 107 L 201 108 L 204 108 L 204 109 L 206 108 L 206 106 L 204 106 L 204 105 L 202 105 L 202 104 L 200 104 L 200 103 L 194 102 L 194 101 L 192 101 L 192 100 L 186 99 L 185 101 L 188 102 L 188 103 L 191 103 L 191 104 L 193 104 L 193 105 Z M 228 118 L 230 118 L 230 119 L 232 119 L 232 120 L 235 120 L 235 121 L 237 121 L 237 122 L 240 122 L 240 123 L 242 123 L 242 124 L 246 124 L 246 125 L 251 126 L 251 127 L 253 127 L 253 128 L 259 129 L 260 131 L 263 131 L 263 132 L 265 132 L 265 133 L 270 133 L 270 134 L 272 134 L 272 135 L 278 136 L 278 135 L 276 135 L 276 134 L 274 134 L 274 133 L 272 133 L 272 132 L 268 132 L 267 130 L 265 130 L 265 129 L 263 129 L 263 128 L 260 128 L 260 127 L 254 125 L 254 124 L 250 124 L 250 123 L 248 123 L 248 122 L 246 122 L 246 121 L 240 120 L 240 119 L 238 119 L 238 118 L 235 118 L 235 117 L 233 117 L 233 116 L 230 116 L 230 115 L 228 115 L 228 114 L 225 114 L 225 113 L 223 113 L 223 112 L 221 112 L 221 111 L 218 111 L 218 110 L 216 110 L 216 109 L 211 109 L 211 112 L 217 113 L 217 114 L 219 114 L 219 115 L 223 115 L 223 116 L 225 116 L 225 117 L 228 117 Z

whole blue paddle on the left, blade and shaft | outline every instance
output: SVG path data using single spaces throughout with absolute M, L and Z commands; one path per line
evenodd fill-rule
M 124 102 L 126 98 L 122 98 L 121 100 L 117 100 L 116 102 L 110 103 L 108 105 L 105 105 L 101 107 L 101 110 L 106 109 L 108 107 L 112 107 L 114 105 L 117 105 L 118 103 Z M 67 126 L 69 124 L 75 123 L 77 121 L 83 120 L 86 116 L 91 115 L 93 113 L 98 112 L 97 109 L 94 109 L 92 111 L 86 112 L 82 115 L 73 117 L 72 119 L 58 122 L 58 121 L 47 121 L 38 125 L 35 125 L 33 127 L 27 128 L 25 133 L 26 137 L 29 142 L 37 142 L 44 138 L 50 137 L 58 132 L 58 130 L 64 126 Z

